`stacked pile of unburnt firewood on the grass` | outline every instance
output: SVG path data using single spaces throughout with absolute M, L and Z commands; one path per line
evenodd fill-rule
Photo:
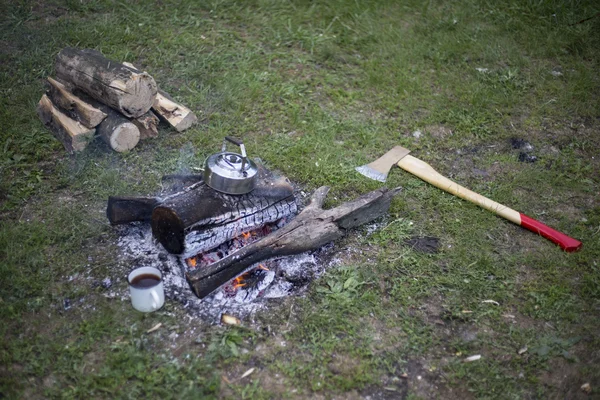
M 55 72 L 37 113 L 71 153 L 96 136 L 115 151 L 131 150 L 140 139 L 158 135 L 159 117 L 178 132 L 197 120 L 147 72 L 98 51 L 65 48 L 56 57 Z

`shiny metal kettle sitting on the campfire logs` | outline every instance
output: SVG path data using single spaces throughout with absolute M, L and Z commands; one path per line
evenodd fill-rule
M 240 147 L 241 154 L 228 152 L 227 142 Z M 226 194 L 245 194 L 256 185 L 258 168 L 248 159 L 244 143 L 229 136 L 223 139 L 221 152 L 206 159 L 204 182 L 211 188 Z

